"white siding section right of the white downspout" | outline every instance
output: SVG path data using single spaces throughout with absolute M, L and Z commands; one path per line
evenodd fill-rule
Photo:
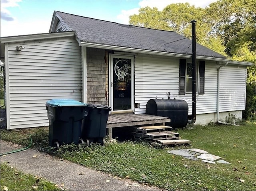
M 220 112 L 245 109 L 246 68 L 227 65 L 220 69 Z

